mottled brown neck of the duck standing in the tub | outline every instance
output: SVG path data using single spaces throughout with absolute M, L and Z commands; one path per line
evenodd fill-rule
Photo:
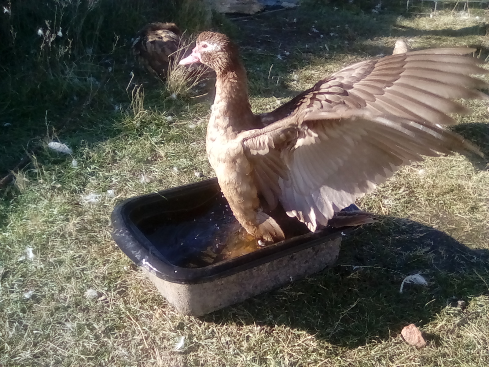
M 248 101 L 246 71 L 242 65 L 217 72 L 216 97 L 209 129 L 227 138 L 256 128 L 258 116 L 251 112 Z

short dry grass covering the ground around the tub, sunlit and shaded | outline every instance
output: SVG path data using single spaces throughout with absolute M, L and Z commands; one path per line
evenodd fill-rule
M 255 112 L 348 63 L 389 53 L 399 36 L 422 48 L 480 44 L 485 32 L 476 20 L 330 8 L 235 24 Z M 289 56 L 279 60 L 285 50 Z M 489 365 L 486 161 L 440 157 L 401 169 L 359 202 L 385 219 L 345 237 L 332 269 L 204 317 L 180 316 L 115 246 L 110 214 L 125 198 L 200 180 L 195 171 L 214 176 L 204 143 L 211 101 L 174 100 L 143 74 L 136 78 L 145 81 L 144 101 L 133 99 L 132 88 L 126 92 L 131 76 L 120 68 L 58 135 L 73 156 L 49 150 L 41 133 L 34 164 L 2 191 L 0 365 Z M 26 109 L 41 111 L 45 103 L 36 98 Z M 456 130 L 489 154 L 486 103 L 470 102 L 474 114 L 460 117 Z M 39 121 L 45 131 L 44 115 Z M 12 134 L 17 143 L 26 137 Z M 84 203 L 90 193 L 101 195 L 98 204 Z M 428 286 L 407 285 L 400 294 L 402 279 L 417 272 Z M 86 297 L 89 289 L 97 297 Z M 453 299 L 467 308 L 452 307 Z M 400 330 L 411 322 L 428 337 L 425 348 L 402 341 Z M 174 351 L 182 336 L 184 347 Z

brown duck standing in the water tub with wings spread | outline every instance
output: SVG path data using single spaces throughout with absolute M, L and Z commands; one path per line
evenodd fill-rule
M 251 112 L 238 48 L 225 35 L 200 33 L 180 64 L 217 73 L 207 126 L 207 156 L 236 219 L 267 242 L 284 239 L 264 212 L 280 204 L 311 231 L 422 156 L 479 149 L 445 129 L 454 98 L 486 98 L 485 74 L 469 48 L 398 53 L 350 65 L 275 111 Z M 264 198 L 262 203 L 259 196 Z

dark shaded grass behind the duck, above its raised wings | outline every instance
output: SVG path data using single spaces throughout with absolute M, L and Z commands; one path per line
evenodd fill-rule
M 306 67 L 314 57 L 362 53 L 356 40 L 390 34 L 397 22 L 394 15 L 376 18 L 331 10 L 298 9 L 234 22 L 250 95 L 295 96 L 298 92 L 290 91 L 284 83 L 291 70 Z

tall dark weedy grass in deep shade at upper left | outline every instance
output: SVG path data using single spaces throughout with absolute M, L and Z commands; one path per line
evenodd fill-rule
M 89 122 L 96 129 L 101 114 L 127 103 L 130 73 L 138 69 L 129 47 L 146 23 L 177 22 L 189 32 L 226 27 L 221 16 L 194 0 L 13 1 L 5 6 L 9 12 L 2 8 L 0 13 L 1 176 L 26 149 L 38 146 L 46 131 L 53 135 Z M 87 102 L 88 113 L 81 118 L 78 109 Z M 87 116 L 92 114 L 97 117 Z

